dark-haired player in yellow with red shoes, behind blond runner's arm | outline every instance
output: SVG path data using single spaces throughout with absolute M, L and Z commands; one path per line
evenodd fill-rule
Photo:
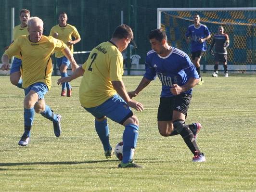
M 62 12 L 59 16 L 59 24 L 51 28 L 50 36 L 62 40 L 73 53 L 73 45 L 78 43 L 81 38 L 75 26 L 67 24 L 67 14 Z M 75 38 L 72 40 L 72 38 Z M 59 67 L 61 77 L 67 77 L 67 68 L 70 64 L 62 51 L 56 51 L 57 65 Z M 67 89 L 67 91 L 66 91 Z M 61 96 L 71 96 L 71 85 L 69 83 L 62 84 Z

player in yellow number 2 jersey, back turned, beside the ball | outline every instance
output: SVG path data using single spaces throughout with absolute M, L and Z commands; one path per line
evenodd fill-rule
M 58 84 L 69 82 L 83 75 L 79 88 L 81 106 L 95 117 L 95 128 L 105 151 L 111 158 L 107 118 L 125 126 L 123 133 L 123 159 L 118 167 L 141 167 L 132 160 L 137 144 L 139 120 L 131 108 L 143 110 L 140 102 L 131 100 L 122 81 L 123 56 L 133 32 L 127 25 L 117 26 L 110 41 L 93 48 L 88 60 L 70 77 L 62 77 Z

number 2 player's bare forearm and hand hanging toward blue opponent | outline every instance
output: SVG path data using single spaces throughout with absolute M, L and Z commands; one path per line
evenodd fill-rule
M 125 100 L 125 102 L 127 102 L 129 107 L 136 109 L 137 111 L 143 111 L 144 107 L 140 102 L 136 102 L 129 98 L 123 81 L 111 81 L 111 82 L 112 82 L 114 89 L 118 93 L 118 95 L 120 97 L 122 97 L 123 100 Z

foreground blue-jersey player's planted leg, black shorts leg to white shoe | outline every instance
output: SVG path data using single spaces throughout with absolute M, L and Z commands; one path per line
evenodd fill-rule
M 174 107 L 172 116 L 173 127 L 181 135 L 194 155 L 192 161 L 205 161 L 205 156 L 200 152 L 190 126 L 185 124 L 191 98 L 192 96 L 187 94 L 181 94 L 176 97 L 176 101 L 174 102 L 176 107 Z

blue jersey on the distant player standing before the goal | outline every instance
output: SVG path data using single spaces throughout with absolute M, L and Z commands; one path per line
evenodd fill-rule
M 193 25 L 188 27 L 186 37 L 191 37 L 191 51 L 206 51 L 206 42 L 200 43 L 200 38 L 206 38 L 210 35 L 207 26 L 200 24 L 198 28 Z

